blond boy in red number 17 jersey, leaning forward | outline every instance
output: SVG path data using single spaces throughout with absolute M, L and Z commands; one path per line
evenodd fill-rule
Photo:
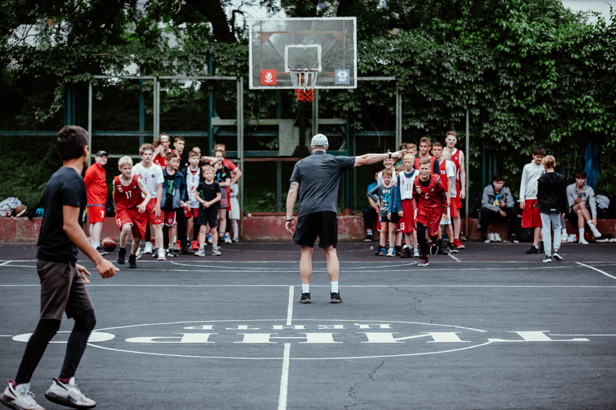
M 128 257 L 128 267 L 137 267 L 137 249 L 145 235 L 145 209 L 150 202 L 150 192 L 138 175 L 132 175 L 131 157 L 121 157 L 118 161 L 121 175 L 113 178 L 113 202 L 116 204 L 116 223 L 120 228 L 120 250 L 116 262 L 123 265 L 126 258 L 126 240 L 132 231 L 131 256 Z M 144 201 L 137 205 L 144 194 Z

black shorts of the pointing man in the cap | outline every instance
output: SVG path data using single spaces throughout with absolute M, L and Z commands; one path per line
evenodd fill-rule
M 319 248 L 338 245 L 338 216 L 335 212 L 320 211 L 298 218 L 293 243 L 312 248 L 317 236 Z

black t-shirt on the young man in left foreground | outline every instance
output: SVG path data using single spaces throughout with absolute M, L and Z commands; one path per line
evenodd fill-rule
M 41 200 L 45 212 L 36 244 L 36 258 L 50 262 L 70 262 L 74 265 L 79 250 L 64 232 L 64 205 L 79 208 L 78 223 L 83 228 L 87 205 L 86 184 L 73 168 L 60 168 L 45 187 Z

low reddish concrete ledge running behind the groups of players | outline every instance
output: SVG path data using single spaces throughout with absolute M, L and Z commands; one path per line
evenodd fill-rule
M 0 242 L 37 242 L 41 221 L 43 218 L 0 218 Z M 253 216 L 242 216 L 243 241 L 248 242 L 280 242 L 291 241 L 291 234 L 285 229 L 286 216 L 280 213 L 261 214 Z M 297 222 L 297 217 L 294 216 Z M 567 232 L 577 233 L 577 226 L 567 223 Z M 462 219 L 462 230 L 464 231 L 464 219 Z M 597 228 L 604 234 L 616 236 L 616 219 L 597 219 Z M 86 235 L 89 235 L 89 224 L 84 226 Z M 490 224 L 488 232 L 498 232 L 502 239 L 509 239 L 509 224 L 503 221 L 494 221 Z M 103 224 L 102 237 L 120 237 L 120 229 L 113 218 L 105 218 Z M 477 219 L 469 219 L 469 232 L 466 237 L 470 240 L 480 240 L 481 235 L 477 232 Z M 357 241 L 365 238 L 363 229 L 362 215 L 342 215 L 338 214 L 338 240 Z

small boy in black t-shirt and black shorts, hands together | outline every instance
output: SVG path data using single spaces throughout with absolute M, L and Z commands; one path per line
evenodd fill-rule
M 197 224 L 200 225 L 199 250 L 195 252 L 195 256 L 205 256 L 205 232 L 208 223 L 209 232 L 212 235 L 212 256 L 218 256 L 221 251 L 218 250 L 216 227 L 218 225 L 218 203 L 222 197 L 221 186 L 214 181 L 214 167 L 211 165 L 203 167 L 203 178 L 205 181 L 199 184 L 195 192 L 195 199 L 201 204 L 197 218 Z

